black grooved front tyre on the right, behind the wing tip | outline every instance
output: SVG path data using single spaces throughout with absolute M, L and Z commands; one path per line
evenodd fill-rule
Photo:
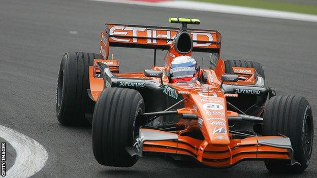
M 300 96 L 272 97 L 264 110 L 263 135 L 286 135 L 294 149 L 294 159 L 301 165 L 289 165 L 289 161 L 268 160 L 270 172 L 304 171 L 309 163 L 313 141 L 313 118 L 308 101 Z

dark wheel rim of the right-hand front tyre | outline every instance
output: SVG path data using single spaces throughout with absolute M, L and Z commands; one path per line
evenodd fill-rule
M 310 158 L 311 150 L 312 150 L 312 125 L 311 125 L 311 118 L 306 116 L 306 122 L 304 127 L 304 152 L 307 159 Z

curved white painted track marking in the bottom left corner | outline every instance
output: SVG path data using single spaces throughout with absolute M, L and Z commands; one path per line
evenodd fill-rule
M 17 154 L 13 166 L 6 172 L 6 177 L 29 177 L 45 166 L 48 154 L 36 140 L 2 125 L 0 137 L 8 141 Z

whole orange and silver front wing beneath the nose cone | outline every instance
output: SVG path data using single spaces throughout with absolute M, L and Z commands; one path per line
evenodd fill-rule
M 176 133 L 152 129 L 140 129 L 135 151 L 131 155 L 170 154 L 189 156 L 210 167 L 228 167 L 242 160 L 281 159 L 296 164 L 291 141 L 283 136 L 255 136 L 231 139 L 228 146 L 212 146 L 199 140 Z

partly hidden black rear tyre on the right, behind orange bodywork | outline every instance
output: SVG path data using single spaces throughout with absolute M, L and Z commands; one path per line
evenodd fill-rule
M 264 70 L 259 62 L 247 61 L 247 60 L 226 60 L 225 61 L 225 73 L 234 74 L 232 67 L 248 67 L 255 68 L 258 74 L 265 79 Z

